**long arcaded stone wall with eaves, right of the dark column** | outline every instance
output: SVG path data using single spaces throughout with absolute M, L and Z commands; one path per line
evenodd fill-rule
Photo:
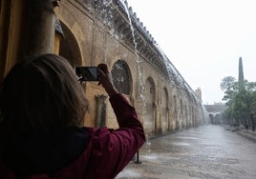
M 107 63 L 113 69 L 118 89 L 125 91 L 138 110 L 148 135 L 207 122 L 205 109 L 195 92 L 125 1 L 62 0 L 56 14 L 65 36 L 59 54 L 73 66 Z M 83 86 L 91 104 L 85 125 L 105 124 L 116 129 L 108 99 L 98 99 L 106 95 L 104 90 L 96 82 L 86 82 Z

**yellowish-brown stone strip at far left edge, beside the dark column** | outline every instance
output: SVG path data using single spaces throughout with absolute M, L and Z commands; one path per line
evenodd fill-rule
M 0 80 L 16 63 L 20 42 L 22 0 L 0 1 Z

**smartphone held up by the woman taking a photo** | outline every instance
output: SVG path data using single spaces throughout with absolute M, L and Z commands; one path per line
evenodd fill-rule
M 75 73 L 81 81 L 98 81 L 97 67 L 75 67 Z

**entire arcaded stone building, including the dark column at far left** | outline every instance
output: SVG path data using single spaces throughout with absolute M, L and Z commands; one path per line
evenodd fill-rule
M 19 60 L 24 47 L 33 46 L 34 50 L 27 48 L 25 53 L 54 51 L 74 67 L 108 64 L 117 89 L 137 109 L 149 136 L 207 123 L 208 116 L 193 89 L 125 1 L 58 1 L 59 7 L 54 10 L 62 30 L 57 27 L 55 38 L 52 8 L 50 15 L 44 15 L 48 9 L 43 8 L 53 1 L 37 1 L 0 1 L 0 79 Z M 40 5 L 39 9 L 31 4 Z M 30 9 L 39 15 L 38 22 L 28 15 Z M 61 31 L 63 35 L 59 34 Z M 30 34 L 37 41 L 31 41 Z M 97 82 L 82 86 L 91 105 L 85 125 L 117 129 L 115 114 L 102 87 Z

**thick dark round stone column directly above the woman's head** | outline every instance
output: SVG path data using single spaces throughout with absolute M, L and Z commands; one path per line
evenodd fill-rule
M 53 52 L 55 14 L 53 0 L 24 1 L 21 54 Z

